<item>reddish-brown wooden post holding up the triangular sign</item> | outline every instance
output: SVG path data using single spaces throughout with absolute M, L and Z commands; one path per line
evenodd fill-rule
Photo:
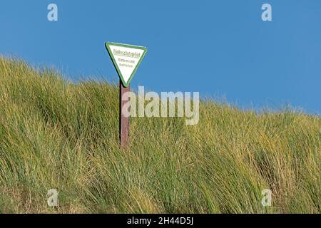
M 119 81 L 119 139 L 121 147 L 127 148 L 129 145 L 129 117 L 123 116 L 122 110 L 128 100 L 122 100 L 123 94 L 130 90 L 130 86 L 123 86 L 121 80 Z M 128 98 L 129 99 L 129 98 Z

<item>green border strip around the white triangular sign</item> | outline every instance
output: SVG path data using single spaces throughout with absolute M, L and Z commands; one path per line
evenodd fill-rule
M 124 43 L 113 43 L 113 42 L 106 42 L 105 46 L 107 48 L 108 55 L 111 57 L 111 61 L 113 61 L 113 66 L 116 68 L 118 76 L 121 78 L 121 82 L 123 83 L 123 86 L 127 87 L 129 85 L 129 83 L 131 83 L 131 79 L 133 78 L 134 74 L 136 73 L 138 66 L 141 64 L 141 61 L 145 57 L 145 55 L 147 53 L 147 48 L 143 47 L 143 46 L 136 46 L 136 45 L 130 45 L 130 44 L 124 44 Z M 131 73 L 131 76 L 128 78 L 128 82 L 127 83 L 123 79 L 123 75 L 121 74 L 121 71 L 119 70 L 119 68 L 117 66 L 117 62 L 116 62 L 115 58 L 113 58 L 113 53 L 112 53 L 111 48 L 109 46 L 120 46 L 120 47 L 125 47 L 125 48 L 136 48 L 136 49 L 141 49 L 141 50 L 144 51 L 143 55 L 141 56 L 141 58 L 139 59 L 137 65 L 136 65 L 136 68 L 133 70 L 133 73 Z

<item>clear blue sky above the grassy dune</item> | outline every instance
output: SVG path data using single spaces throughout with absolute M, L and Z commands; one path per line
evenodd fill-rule
M 58 5 L 58 21 L 47 6 Z M 272 21 L 261 19 L 263 3 Z M 0 53 L 117 81 L 104 43 L 148 48 L 132 88 L 199 91 L 240 108 L 321 113 L 321 1 L 3 0 Z

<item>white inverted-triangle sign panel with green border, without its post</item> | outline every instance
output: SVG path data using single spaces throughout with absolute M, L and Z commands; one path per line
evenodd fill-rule
M 106 48 L 109 56 L 111 56 L 111 61 L 113 61 L 113 66 L 115 66 L 118 76 L 123 82 L 123 86 L 127 87 L 146 55 L 147 48 L 111 42 L 106 43 Z

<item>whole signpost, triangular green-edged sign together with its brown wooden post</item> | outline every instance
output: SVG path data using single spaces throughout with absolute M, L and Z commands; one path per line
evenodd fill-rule
M 106 48 L 113 66 L 116 68 L 119 80 L 119 139 L 121 147 L 126 148 L 129 145 L 129 117 L 123 115 L 123 105 L 128 100 L 123 100 L 123 95 L 130 91 L 129 83 L 138 66 L 146 55 L 147 48 L 143 46 L 134 46 L 123 43 L 107 42 Z M 129 110 L 128 110 L 129 111 Z

